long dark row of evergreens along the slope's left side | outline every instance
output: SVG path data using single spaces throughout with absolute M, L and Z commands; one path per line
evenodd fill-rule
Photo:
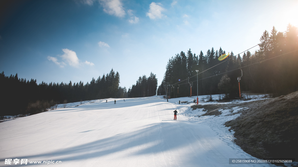
M 120 75 L 112 69 L 110 73 L 92 78 L 91 82 L 37 84 L 36 79 L 18 78 L 18 74 L 5 76 L 0 73 L 1 115 L 30 114 L 30 106 L 37 101 L 42 104 L 68 103 L 103 98 L 126 98 L 126 88 L 119 86 Z M 53 103 L 53 101 L 55 103 Z M 39 103 L 39 102 L 38 102 Z M 48 106 L 48 105 L 45 105 Z M 32 107 L 31 107 L 32 108 Z M 29 113 L 28 113 L 29 112 Z

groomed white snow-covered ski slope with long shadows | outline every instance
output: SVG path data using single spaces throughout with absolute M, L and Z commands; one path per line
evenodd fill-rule
M 187 97 L 169 103 L 162 96 L 116 99 L 117 104 L 93 100 L 2 122 L 0 166 L 15 158 L 28 159 L 25 166 L 36 166 L 32 160 L 62 161 L 48 166 L 271 166 L 229 164 L 229 158 L 252 156 L 231 141 L 233 132 L 223 121 L 194 121 L 191 105 L 179 105 L 179 99 Z

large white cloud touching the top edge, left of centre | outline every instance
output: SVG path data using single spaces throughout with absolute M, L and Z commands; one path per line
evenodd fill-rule
M 109 15 L 122 18 L 126 14 L 120 0 L 99 0 L 99 3 L 103 6 L 103 11 Z

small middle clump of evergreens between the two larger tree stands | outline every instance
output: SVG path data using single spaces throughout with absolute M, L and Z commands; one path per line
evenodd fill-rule
M 152 72 L 147 78 L 146 75 L 139 77 L 136 84 L 133 84 L 128 89 L 128 97 L 149 97 L 156 95 L 157 78 Z

